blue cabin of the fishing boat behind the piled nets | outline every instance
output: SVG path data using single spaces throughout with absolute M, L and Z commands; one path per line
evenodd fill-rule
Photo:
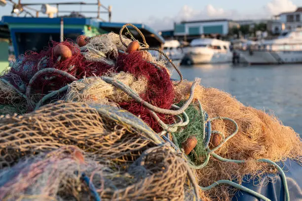
M 8 26 L 15 56 L 27 50 L 41 51 L 48 46 L 51 40 L 60 41 L 63 33 L 64 39 L 76 40 L 80 34 L 87 36 L 102 33 L 119 33 L 126 23 L 99 22 L 88 18 L 43 18 L 43 17 L 12 17 L 3 16 L 2 24 Z M 144 24 L 134 24 L 145 35 L 151 47 L 161 47 L 164 39 Z M 131 28 L 131 34 L 142 41 L 141 36 Z M 63 32 L 61 32 L 63 31 Z M 126 35 L 129 37 L 129 34 Z

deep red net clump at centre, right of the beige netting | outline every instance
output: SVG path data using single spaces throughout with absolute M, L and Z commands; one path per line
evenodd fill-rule
M 174 100 L 174 89 L 169 73 L 163 67 L 156 66 L 142 59 L 140 52 L 134 52 L 128 55 L 121 55 L 117 61 L 117 69 L 129 72 L 134 76 L 144 76 L 147 79 L 147 91 L 141 98 L 153 105 L 170 109 Z M 150 111 L 142 106 L 140 102 L 134 100 L 130 102 L 121 102 L 119 105 L 140 116 L 155 132 L 161 131 L 157 121 L 151 116 Z M 172 119 L 168 115 L 158 114 L 159 118 L 165 123 L 171 123 Z

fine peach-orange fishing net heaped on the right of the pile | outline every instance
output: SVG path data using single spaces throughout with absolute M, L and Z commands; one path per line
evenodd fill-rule
M 179 98 L 185 99 L 189 96 L 189 85 L 189 82 L 184 82 L 176 86 L 175 91 L 178 92 Z M 261 110 L 246 107 L 229 94 L 214 88 L 199 86 L 194 98 L 200 100 L 202 108 L 210 118 L 229 117 L 238 125 L 238 133 L 215 153 L 227 159 L 246 160 L 246 163 L 236 164 L 212 157 L 205 167 L 195 170 L 200 186 L 209 186 L 221 179 L 236 181 L 240 184 L 247 174 L 251 176 L 250 179 L 255 179 L 256 185 L 260 183 L 258 181 L 265 173 L 276 173 L 274 167 L 256 162 L 255 159 L 285 161 L 291 158 L 302 162 L 302 140 L 299 134 L 292 128 L 283 126 L 276 117 Z M 231 122 L 220 119 L 212 121 L 211 127 L 212 130 L 220 131 L 226 136 L 235 130 Z M 199 161 L 205 160 L 204 155 L 199 155 L 199 157 Z M 265 185 L 265 182 L 262 185 Z M 222 201 L 230 200 L 234 193 L 235 189 L 228 185 L 220 185 L 210 191 L 205 191 L 206 197 Z

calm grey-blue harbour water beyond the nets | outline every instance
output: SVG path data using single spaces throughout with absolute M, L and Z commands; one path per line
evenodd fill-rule
M 302 65 L 247 66 L 232 64 L 179 67 L 185 79 L 201 78 L 235 96 L 245 105 L 276 115 L 302 136 Z M 172 70 L 172 77 L 178 74 Z

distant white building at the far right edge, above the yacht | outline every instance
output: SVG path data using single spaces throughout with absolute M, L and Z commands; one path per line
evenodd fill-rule
M 302 27 L 302 7 L 297 8 L 293 12 L 280 13 L 273 18 L 272 33 L 296 30 L 296 28 Z

